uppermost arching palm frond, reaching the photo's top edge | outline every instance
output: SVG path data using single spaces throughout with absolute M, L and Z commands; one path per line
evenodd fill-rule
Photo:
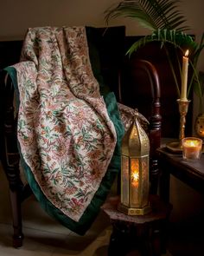
M 157 29 L 188 30 L 182 26 L 186 19 L 177 10 L 178 0 L 124 0 L 105 10 L 105 21 L 118 16 L 135 18 L 143 27 Z

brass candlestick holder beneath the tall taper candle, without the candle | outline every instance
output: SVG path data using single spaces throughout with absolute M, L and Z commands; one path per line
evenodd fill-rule
M 189 100 L 182 101 L 181 99 L 178 99 L 177 102 L 179 105 L 179 113 L 180 113 L 179 141 L 170 142 L 167 145 L 167 148 L 169 148 L 169 150 L 175 153 L 180 153 L 182 152 L 182 139 L 185 137 L 186 115 L 188 113 L 188 105 L 190 101 Z

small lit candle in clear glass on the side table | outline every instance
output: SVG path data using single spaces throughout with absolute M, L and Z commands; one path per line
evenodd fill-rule
M 202 140 L 195 137 L 182 139 L 182 157 L 186 160 L 196 160 L 201 157 Z

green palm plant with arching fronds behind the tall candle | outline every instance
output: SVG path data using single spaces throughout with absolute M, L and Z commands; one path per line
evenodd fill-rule
M 178 97 L 180 97 L 180 87 L 167 44 L 170 43 L 175 48 L 175 56 L 181 75 L 182 68 L 178 53 L 181 54 L 182 52 L 182 55 L 184 55 L 186 49 L 188 49 L 190 53 L 189 66 L 192 69 L 192 75 L 188 82 L 188 94 L 190 89 L 194 88 L 194 92 L 199 96 L 200 108 L 202 109 L 203 88 L 201 85 L 203 84 L 203 73 L 199 73 L 196 66 L 204 47 L 204 35 L 201 37 L 201 43 L 196 43 L 194 37 L 187 34 L 189 27 L 183 25 L 186 19 L 178 9 L 178 3 L 177 0 L 123 0 L 105 10 L 105 21 L 108 24 L 112 18 L 125 16 L 135 19 L 144 28 L 150 30 L 150 35 L 143 36 L 133 43 L 127 54 L 131 56 L 133 52 L 150 42 L 161 43 L 161 47 L 166 50 L 169 59 L 169 67 L 175 80 Z

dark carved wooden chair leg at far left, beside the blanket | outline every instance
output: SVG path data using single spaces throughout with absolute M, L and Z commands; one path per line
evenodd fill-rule
M 6 80 L 3 87 L 3 155 L 2 164 L 10 186 L 10 204 L 13 219 L 13 246 L 22 246 L 22 190 L 23 184 L 20 178 L 20 155 L 17 148 L 15 109 L 13 107 L 14 88 L 10 79 Z

